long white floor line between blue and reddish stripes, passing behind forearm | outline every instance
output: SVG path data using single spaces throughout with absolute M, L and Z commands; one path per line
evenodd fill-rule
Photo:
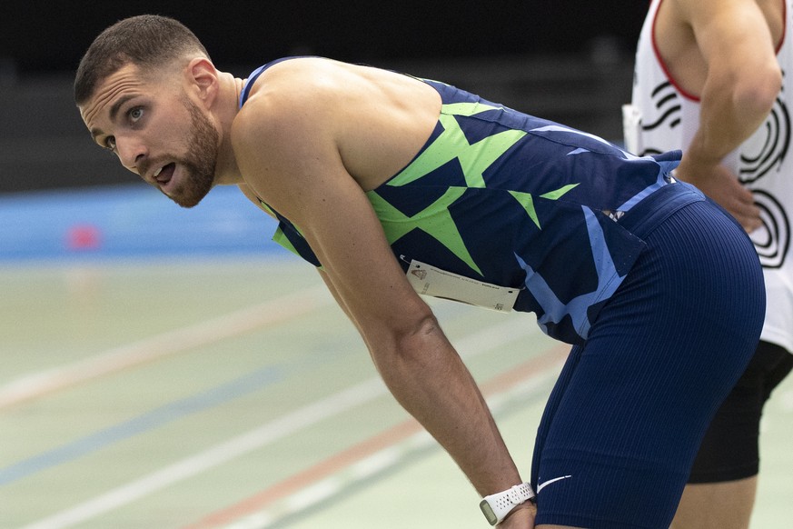
M 535 331 L 536 328 L 530 323 L 514 320 L 493 325 L 460 340 L 458 351 L 467 356 L 484 354 L 488 350 L 491 351 L 501 345 L 510 344 L 520 337 L 538 334 L 539 330 Z M 373 377 L 347 390 L 323 397 L 321 401 L 286 414 L 247 434 L 234 437 L 225 443 L 166 466 L 162 470 L 146 475 L 132 483 L 100 494 L 83 504 L 77 504 L 34 524 L 26 525 L 22 529 L 73 527 L 75 524 L 83 523 L 123 505 L 131 504 L 148 494 L 164 489 L 166 486 L 273 443 L 286 435 L 294 434 L 302 428 L 319 423 L 335 414 L 341 414 L 354 406 L 366 404 L 386 392 L 382 380 L 379 377 Z

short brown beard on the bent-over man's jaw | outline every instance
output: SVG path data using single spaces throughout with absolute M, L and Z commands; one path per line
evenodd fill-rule
M 187 154 L 176 162 L 183 166 L 186 174 L 182 184 L 166 196 L 182 207 L 193 207 L 213 188 L 219 135 L 192 101 L 185 98 L 184 106 L 190 113 L 193 135 L 188 143 Z

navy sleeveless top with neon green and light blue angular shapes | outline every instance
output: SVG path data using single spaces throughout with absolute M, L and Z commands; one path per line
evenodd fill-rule
M 580 343 L 644 244 L 617 219 L 669 184 L 679 153 L 639 158 L 605 140 L 450 85 L 409 165 L 368 193 L 393 253 L 521 289 L 551 336 Z M 341 207 L 342 205 L 340 205 Z M 263 205 L 266 207 L 266 205 Z M 274 240 L 321 265 L 282 215 Z

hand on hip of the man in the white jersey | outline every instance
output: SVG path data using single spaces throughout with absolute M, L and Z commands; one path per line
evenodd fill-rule
M 724 165 L 694 168 L 680 164 L 675 175 L 683 182 L 696 185 L 702 193 L 726 209 L 747 233 L 762 225 L 760 210 L 751 192 L 740 185 L 738 178 Z

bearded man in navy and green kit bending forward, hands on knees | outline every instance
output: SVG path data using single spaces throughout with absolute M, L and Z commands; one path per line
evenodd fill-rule
M 669 176 L 679 153 L 638 158 L 450 85 L 324 58 L 235 78 L 150 15 L 94 40 L 74 93 L 94 141 L 178 204 L 239 185 L 279 219 L 275 239 L 318 267 L 491 524 L 669 525 L 765 304 L 748 236 Z M 534 312 L 573 344 L 535 443 L 536 509 L 417 291 Z

